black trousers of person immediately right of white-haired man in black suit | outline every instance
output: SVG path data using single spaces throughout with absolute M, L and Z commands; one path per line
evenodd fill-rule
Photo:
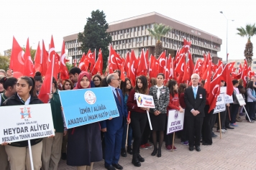
M 212 121 L 212 116 L 214 113 L 214 110 L 211 110 L 210 113 L 208 113 L 210 106 L 206 105 L 204 107 L 204 122 L 203 122 L 203 127 L 202 127 L 202 140 L 205 143 L 212 143 L 212 138 L 211 138 L 211 121 Z

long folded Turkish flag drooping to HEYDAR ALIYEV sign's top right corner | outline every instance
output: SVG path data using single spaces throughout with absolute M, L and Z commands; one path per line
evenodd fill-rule
M 49 51 L 49 68 L 47 69 L 47 72 L 45 74 L 45 80 L 42 82 L 42 88 L 40 90 L 40 93 L 38 95 L 38 98 L 42 100 L 43 103 L 48 103 L 49 100 L 49 93 L 52 92 L 52 75 L 53 75 L 53 67 L 55 64 L 55 47 L 54 47 L 54 42 L 53 38 L 51 39 L 50 42 L 50 50 Z

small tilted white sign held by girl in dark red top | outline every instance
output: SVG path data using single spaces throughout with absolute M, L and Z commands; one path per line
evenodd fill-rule
M 137 106 L 140 108 L 155 108 L 155 103 L 152 95 L 143 95 L 135 93 Z

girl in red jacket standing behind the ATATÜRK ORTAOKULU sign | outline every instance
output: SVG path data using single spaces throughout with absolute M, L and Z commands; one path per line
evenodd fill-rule
M 175 80 L 169 80 L 166 85 L 170 90 L 170 102 L 167 107 L 167 115 L 168 110 L 174 109 L 179 110 L 180 113 L 183 113 L 183 108 L 180 106 L 180 101 L 178 98 L 178 84 Z M 168 118 L 166 119 L 166 126 L 168 123 Z M 166 131 L 166 128 L 165 128 Z M 166 134 L 166 133 L 165 133 Z M 173 146 L 173 133 L 170 133 L 169 135 L 165 136 L 165 148 L 167 151 L 177 150 L 175 146 Z

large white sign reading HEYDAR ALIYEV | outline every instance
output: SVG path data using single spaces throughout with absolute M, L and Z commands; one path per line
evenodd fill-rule
M 50 103 L 0 107 L 0 143 L 55 135 Z

